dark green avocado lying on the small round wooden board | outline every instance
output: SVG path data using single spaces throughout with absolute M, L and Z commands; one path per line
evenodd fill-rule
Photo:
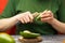
M 40 34 L 39 33 L 32 33 L 30 31 L 21 31 L 20 32 L 22 37 L 24 37 L 25 39 L 35 39 L 37 37 L 39 37 Z

